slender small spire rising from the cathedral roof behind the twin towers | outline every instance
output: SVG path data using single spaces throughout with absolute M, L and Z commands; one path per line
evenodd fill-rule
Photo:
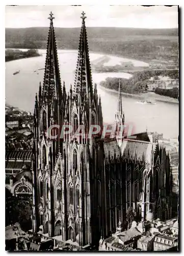
M 124 125 L 124 112 L 122 111 L 122 99 L 121 99 L 121 79 L 119 79 L 118 90 L 118 108 L 115 112 L 115 127 L 116 127 L 116 139 L 118 145 L 121 146 L 123 139 L 123 125 Z

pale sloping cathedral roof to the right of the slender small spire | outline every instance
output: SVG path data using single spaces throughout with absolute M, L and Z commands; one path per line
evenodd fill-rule
M 151 150 L 155 150 L 155 144 L 147 141 L 140 140 L 132 140 L 132 139 L 123 139 L 123 143 L 121 145 L 121 154 L 125 158 L 133 157 L 135 158 L 135 154 L 137 155 L 137 159 L 142 161 L 143 153 L 144 159 L 147 160 L 148 163 L 151 162 Z

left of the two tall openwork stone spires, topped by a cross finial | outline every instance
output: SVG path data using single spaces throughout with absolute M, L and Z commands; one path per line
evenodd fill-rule
M 52 101 L 53 98 L 58 98 L 61 95 L 61 80 L 59 63 L 57 56 L 57 46 L 55 31 L 53 26 L 53 13 L 50 12 L 50 27 L 48 31 L 46 60 L 45 60 L 45 73 L 43 80 L 43 100 L 45 102 Z

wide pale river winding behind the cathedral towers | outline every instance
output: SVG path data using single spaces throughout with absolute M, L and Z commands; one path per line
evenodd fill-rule
M 38 92 L 39 82 L 43 82 L 45 66 L 45 50 L 39 50 L 42 56 L 18 59 L 6 62 L 6 102 L 25 111 L 34 110 L 35 93 Z M 61 80 L 65 81 L 66 90 L 73 84 L 77 51 L 59 50 L 59 64 Z M 101 58 L 102 54 L 91 53 L 91 62 Z M 122 61 L 123 58 L 111 57 L 111 62 Z M 128 61 L 128 59 L 124 59 Z M 130 61 L 130 60 L 129 60 Z M 146 66 L 147 63 L 131 60 L 134 66 Z M 106 64 L 108 65 L 108 63 Z M 20 73 L 13 75 L 17 70 Z M 36 72 L 34 72 L 36 71 Z M 38 72 L 37 72 L 38 71 Z M 112 123 L 117 109 L 117 92 L 108 91 L 99 86 L 106 77 L 131 77 L 128 73 L 92 73 L 93 82 L 97 83 L 98 95 L 101 96 L 103 121 Z M 179 105 L 157 101 L 156 105 L 139 104 L 135 97 L 122 95 L 122 105 L 125 114 L 125 123 L 131 123 L 134 132 L 163 133 L 165 138 L 175 138 L 179 130 Z

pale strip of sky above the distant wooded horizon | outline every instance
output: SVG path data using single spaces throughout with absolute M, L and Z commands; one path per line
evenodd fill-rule
M 177 6 L 6 6 L 5 27 L 48 27 L 48 14 L 54 13 L 54 26 L 81 27 L 86 13 L 87 27 L 178 28 Z

